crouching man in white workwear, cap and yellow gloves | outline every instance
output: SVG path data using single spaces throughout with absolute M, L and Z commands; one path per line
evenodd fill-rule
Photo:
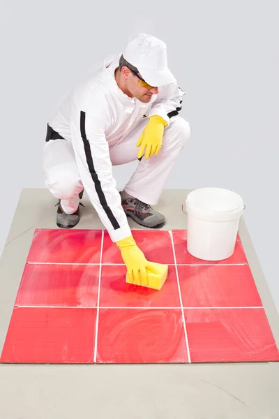
M 139 34 L 74 89 L 47 124 L 43 170 L 45 185 L 59 199 L 57 226 L 77 225 L 85 189 L 137 284 L 147 283 L 150 265 L 127 216 L 146 228 L 165 224 L 151 205 L 190 137 L 179 116 L 183 94 L 167 67 L 165 43 Z M 119 194 L 112 166 L 137 159 Z

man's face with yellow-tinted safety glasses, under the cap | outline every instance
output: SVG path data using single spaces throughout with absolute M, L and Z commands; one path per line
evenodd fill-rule
M 123 68 L 123 71 L 124 78 L 126 79 L 126 88 L 130 93 L 130 97 L 135 97 L 140 102 L 148 103 L 151 101 L 153 94 L 158 94 L 158 87 L 151 87 L 144 80 L 140 80 L 142 79 L 140 73 L 135 75 L 127 67 Z

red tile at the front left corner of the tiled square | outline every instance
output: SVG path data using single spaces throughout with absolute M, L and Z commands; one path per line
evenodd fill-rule
M 93 362 L 96 311 L 15 308 L 1 362 Z

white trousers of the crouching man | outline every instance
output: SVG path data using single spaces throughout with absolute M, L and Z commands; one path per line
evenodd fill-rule
M 133 131 L 121 138 L 110 148 L 112 166 L 137 160 L 140 147 L 136 147 L 148 118 L 140 121 Z M 125 186 L 131 196 L 149 205 L 156 205 L 163 191 L 169 172 L 176 157 L 190 138 L 190 126 L 180 116 L 174 117 L 171 124 L 164 128 L 160 152 L 139 161 L 137 169 Z M 45 186 L 52 195 L 61 200 L 61 207 L 67 214 L 73 214 L 80 203 L 79 193 L 84 188 L 75 162 L 73 145 L 67 140 L 50 140 L 43 147 L 43 172 Z

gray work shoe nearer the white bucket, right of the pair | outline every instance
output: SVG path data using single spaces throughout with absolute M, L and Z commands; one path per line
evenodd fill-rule
M 121 200 L 123 210 L 127 216 L 148 228 L 161 228 L 165 225 L 165 216 L 151 208 L 150 205 L 143 203 L 137 198 L 127 198 Z

